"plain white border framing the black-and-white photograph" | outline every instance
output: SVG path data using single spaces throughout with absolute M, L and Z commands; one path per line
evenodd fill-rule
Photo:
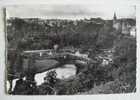
M 0 9 L 0 99 L 1 100 L 38 100 L 38 99 L 101 99 L 101 100 L 139 100 L 140 98 L 140 2 L 139 0 L 2 0 L 1 7 L 12 5 L 36 5 L 36 4 L 108 4 L 108 5 L 136 5 L 136 25 L 137 25 L 137 92 L 130 94 L 104 94 L 104 95 L 73 95 L 73 96 L 10 96 L 4 92 L 4 70 L 5 70 L 5 34 L 3 26 L 2 9 Z

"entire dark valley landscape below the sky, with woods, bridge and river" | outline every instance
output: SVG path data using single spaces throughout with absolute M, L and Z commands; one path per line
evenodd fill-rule
M 136 91 L 136 19 L 7 19 L 13 95 Z

